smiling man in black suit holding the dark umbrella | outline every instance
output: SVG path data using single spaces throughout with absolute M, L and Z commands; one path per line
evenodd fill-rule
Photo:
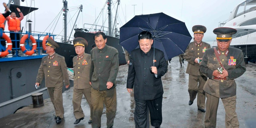
M 163 86 L 161 77 L 167 72 L 164 52 L 152 48 L 152 35 L 143 31 L 138 36 L 140 48 L 130 54 L 127 77 L 127 91 L 134 88 L 136 103 L 134 121 L 136 128 L 149 128 L 148 110 L 151 125 L 160 128 L 162 124 Z M 153 64 L 154 63 L 154 64 Z

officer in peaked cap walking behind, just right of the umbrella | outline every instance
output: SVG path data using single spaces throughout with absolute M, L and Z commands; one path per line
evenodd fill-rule
M 205 93 L 203 91 L 204 83 L 207 77 L 204 76 L 199 69 L 202 59 L 206 49 L 210 48 L 210 44 L 202 42 L 204 33 L 206 32 L 206 27 L 202 25 L 195 25 L 192 27 L 194 32 L 194 42 L 190 42 L 185 51 L 184 58 L 188 61 L 188 66 L 186 73 L 189 74 L 188 77 L 188 93 L 190 100 L 189 105 L 192 105 L 197 94 L 197 107 L 201 112 L 205 112 Z

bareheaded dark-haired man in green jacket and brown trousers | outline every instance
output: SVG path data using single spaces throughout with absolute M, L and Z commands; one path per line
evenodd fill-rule
M 103 32 L 94 34 L 97 48 L 91 50 L 90 83 L 92 85 L 92 128 L 101 127 L 103 103 L 106 106 L 107 128 L 112 128 L 116 116 L 116 76 L 119 68 L 118 50 L 106 45 Z

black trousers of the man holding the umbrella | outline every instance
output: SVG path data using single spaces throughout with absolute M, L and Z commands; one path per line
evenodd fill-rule
M 135 100 L 134 121 L 136 128 L 149 128 L 148 110 L 150 112 L 150 124 L 155 127 L 162 124 L 162 100 L 163 96 L 154 100 Z

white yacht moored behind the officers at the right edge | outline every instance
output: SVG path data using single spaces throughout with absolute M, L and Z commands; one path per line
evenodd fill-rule
M 231 12 L 228 20 L 219 22 L 219 27 L 235 28 L 230 46 L 239 48 L 244 53 L 244 60 L 256 62 L 256 0 L 244 0 Z M 214 42 L 212 46 L 217 46 Z

